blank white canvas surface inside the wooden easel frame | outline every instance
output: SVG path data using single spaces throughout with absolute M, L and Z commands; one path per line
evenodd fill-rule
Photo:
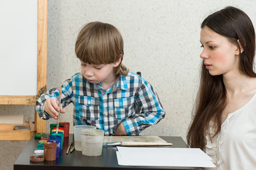
M 0 1 L 0 95 L 36 96 L 38 1 Z

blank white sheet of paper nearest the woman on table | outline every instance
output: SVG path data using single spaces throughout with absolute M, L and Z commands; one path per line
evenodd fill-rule
M 117 162 L 124 166 L 215 167 L 198 148 L 117 147 Z

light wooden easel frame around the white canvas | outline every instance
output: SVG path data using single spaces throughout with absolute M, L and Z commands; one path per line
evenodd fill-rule
M 38 73 L 36 96 L 0 96 L 0 105 L 35 105 L 36 98 L 46 92 L 47 65 L 47 5 L 48 0 L 38 0 Z M 26 125 L 26 124 L 24 124 Z M 14 125 L 11 125 L 13 127 Z M 0 125 L 0 140 L 30 140 L 30 132 L 6 129 L 9 125 Z M 35 110 L 35 132 L 46 132 L 46 120 L 39 118 Z M 32 132 L 33 131 L 33 132 Z

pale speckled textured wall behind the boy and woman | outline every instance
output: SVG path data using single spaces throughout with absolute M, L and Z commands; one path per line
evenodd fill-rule
M 74 47 L 82 25 L 111 23 L 124 38 L 123 63 L 132 72 L 142 72 L 166 111 L 166 118 L 142 135 L 173 135 L 185 140 L 198 88 L 200 24 L 208 14 L 225 6 L 244 10 L 256 27 L 255 0 L 48 0 L 47 88 L 60 86 L 80 71 Z M 66 111 L 60 120 L 73 125 L 73 106 Z M 33 117 L 33 106 L 0 106 L 0 114 L 4 113 Z M 50 123 L 55 120 L 48 120 L 47 128 Z M 1 142 L 0 151 L 11 146 L 18 149 L 4 159 L 1 156 L 8 152 L 0 152 L 0 164 L 10 169 L 25 145 Z

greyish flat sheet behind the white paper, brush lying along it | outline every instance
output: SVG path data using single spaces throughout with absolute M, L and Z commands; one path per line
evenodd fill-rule
M 167 143 L 158 136 L 105 136 L 103 142 L 156 142 Z

